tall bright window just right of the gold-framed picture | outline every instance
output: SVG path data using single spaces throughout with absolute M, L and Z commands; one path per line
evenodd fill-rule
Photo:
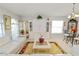
M 16 38 L 19 36 L 18 21 L 16 21 L 16 19 L 11 20 L 11 28 L 12 28 L 12 40 L 16 40 Z

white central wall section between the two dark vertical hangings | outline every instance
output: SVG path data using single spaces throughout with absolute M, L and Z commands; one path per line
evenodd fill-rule
M 46 32 L 47 19 L 33 19 L 31 22 L 32 31 L 29 32 L 30 39 L 38 39 L 41 35 L 45 38 L 49 37 L 49 33 Z

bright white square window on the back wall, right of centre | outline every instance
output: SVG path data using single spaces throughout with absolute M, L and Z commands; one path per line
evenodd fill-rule
M 63 21 L 52 21 L 52 33 L 63 33 Z

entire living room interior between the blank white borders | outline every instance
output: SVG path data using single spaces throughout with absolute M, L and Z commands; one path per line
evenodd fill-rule
M 0 54 L 79 55 L 78 7 L 79 3 L 0 3 Z

